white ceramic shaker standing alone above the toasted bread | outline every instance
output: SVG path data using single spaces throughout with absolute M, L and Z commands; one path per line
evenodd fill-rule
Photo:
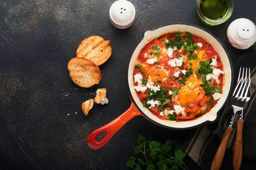
M 116 28 L 128 28 L 135 19 L 134 5 L 127 0 L 117 0 L 110 7 L 109 17 Z

